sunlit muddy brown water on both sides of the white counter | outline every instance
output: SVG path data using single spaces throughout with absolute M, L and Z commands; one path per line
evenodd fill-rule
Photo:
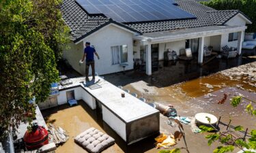
M 111 80 L 128 82 L 128 80 L 122 77 L 124 76 L 112 75 Z M 160 78 L 162 76 L 158 77 Z M 136 80 L 139 80 L 139 78 L 136 78 Z M 171 103 L 175 106 L 178 115 L 180 116 L 195 116 L 195 114 L 199 112 L 207 112 L 214 114 L 216 117 L 221 116 L 222 122 L 227 123 L 229 122 L 229 119 L 231 119 L 232 125 L 242 125 L 250 130 L 255 129 L 256 118 L 244 112 L 248 101 L 242 101 L 241 105 L 234 108 L 231 107 L 229 103 L 229 99 L 231 98 L 229 96 L 223 105 L 218 104 L 218 101 L 223 97 L 223 93 L 234 95 L 242 94 L 250 99 L 256 99 L 256 87 L 251 86 L 248 82 L 255 84 L 255 82 L 248 80 L 246 76 L 241 76 L 240 80 L 230 80 L 228 76 L 222 75 L 221 73 L 214 73 L 212 75 L 170 86 L 153 86 L 148 84 L 150 87 L 143 87 L 141 90 L 138 90 L 141 84 L 132 82 L 132 84 L 126 84 L 124 88 L 129 89 L 130 92 L 136 92 L 138 97 L 144 97 L 147 99 L 147 103 L 154 101 L 165 105 Z M 149 93 L 148 91 L 152 90 L 152 88 L 154 88 L 154 92 Z M 207 96 L 209 93 L 210 96 Z M 42 111 L 42 114 L 46 117 L 47 124 L 53 123 L 57 126 L 61 126 L 68 131 L 68 134 L 70 135 L 70 139 L 66 143 L 63 143 L 62 146 L 58 146 L 56 152 L 59 153 L 86 152 L 81 146 L 74 143 L 74 137 L 91 126 L 111 135 L 111 137 L 114 137 L 115 139 L 115 145 L 103 152 L 153 153 L 160 151 L 154 148 L 154 137 L 134 143 L 132 146 L 126 146 L 124 141 L 102 121 L 101 114 L 99 114 L 97 110 L 91 110 L 83 101 L 79 101 L 79 105 L 75 107 L 60 105 L 55 108 L 46 109 Z M 169 126 L 165 122 L 166 120 L 167 118 L 165 116 L 160 115 L 160 132 L 166 134 L 174 133 L 176 129 Z M 225 128 L 225 126 L 221 126 L 221 129 L 225 130 Z M 205 134 L 193 133 L 189 125 L 184 125 L 184 130 L 190 153 L 212 152 L 214 148 L 219 145 L 218 143 L 214 143 L 212 146 L 208 146 Z M 175 147 L 184 148 L 184 140 L 182 139 L 181 141 L 178 141 Z M 236 149 L 236 151 L 238 151 L 238 149 Z M 182 150 L 182 152 L 186 151 Z

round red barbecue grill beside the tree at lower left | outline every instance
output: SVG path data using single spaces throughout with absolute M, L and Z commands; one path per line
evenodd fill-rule
M 25 146 L 28 150 L 40 148 L 48 144 L 48 131 L 44 126 L 38 126 L 38 124 L 33 124 L 32 131 L 26 131 L 24 137 Z

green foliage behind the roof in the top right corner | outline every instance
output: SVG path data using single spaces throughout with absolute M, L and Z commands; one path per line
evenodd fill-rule
M 253 22 L 253 24 L 248 24 L 248 29 L 246 31 L 251 33 L 256 31 L 255 0 L 212 0 L 203 1 L 201 3 L 216 10 L 240 10 Z

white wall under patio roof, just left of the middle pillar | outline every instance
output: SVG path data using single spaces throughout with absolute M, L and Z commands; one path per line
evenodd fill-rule
M 166 47 L 165 47 L 165 44 L 166 44 Z M 185 48 L 185 40 L 160 43 L 159 44 L 159 60 L 164 59 L 164 52 L 167 51 L 167 49 L 174 50 L 175 52 L 177 52 L 177 55 L 179 55 L 180 49 L 182 48 Z

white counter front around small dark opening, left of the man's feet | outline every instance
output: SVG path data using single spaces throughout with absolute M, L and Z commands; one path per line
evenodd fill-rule
M 62 91 L 59 91 L 59 95 L 57 96 L 58 105 L 62 105 L 64 103 L 68 102 L 66 92 L 67 91 L 72 91 L 72 90 L 74 90 L 74 99 L 76 99 L 76 100 L 82 99 L 82 97 L 81 97 L 81 95 L 82 95 L 81 87 L 71 88 L 71 89 L 68 89 L 68 90 L 62 90 Z

